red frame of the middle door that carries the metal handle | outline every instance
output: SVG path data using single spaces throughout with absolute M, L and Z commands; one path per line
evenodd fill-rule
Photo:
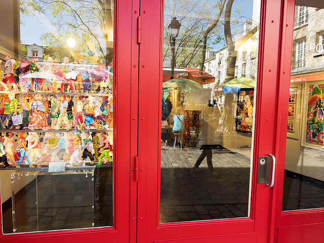
M 163 1 L 161 1 L 163 2 Z M 277 184 L 269 188 L 257 184 L 259 156 L 276 155 L 280 137 L 277 128 L 280 120 L 278 107 L 281 89 L 281 40 L 284 6 L 280 0 L 262 1 L 256 124 L 254 140 L 254 165 L 250 218 L 203 222 L 159 224 L 160 181 L 160 114 L 163 56 L 163 3 L 142 0 L 142 43 L 140 44 L 139 72 L 139 160 L 138 182 L 138 242 L 271 242 L 273 235 Z M 281 11 L 278 11 L 281 10 Z M 145 13 L 144 13 L 145 11 Z M 278 168 L 276 168 L 276 172 Z

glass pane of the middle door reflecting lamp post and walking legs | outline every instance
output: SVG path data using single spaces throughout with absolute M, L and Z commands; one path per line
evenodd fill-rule
M 165 1 L 160 223 L 250 216 L 260 1 L 222 3 Z

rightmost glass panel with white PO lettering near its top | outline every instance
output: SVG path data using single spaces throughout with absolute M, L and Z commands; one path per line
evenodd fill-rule
M 324 208 L 323 4 L 295 6 L 282 211 Z

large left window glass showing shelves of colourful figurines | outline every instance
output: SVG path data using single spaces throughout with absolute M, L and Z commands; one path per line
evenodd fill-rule
M 2 1 L 3 233 L 113 226 L 113 3 Z

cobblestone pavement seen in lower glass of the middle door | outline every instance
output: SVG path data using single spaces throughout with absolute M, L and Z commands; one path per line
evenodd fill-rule
M 215 178 L 206 158 L 201 174 L 192 170 L 200 153 L 199 148 L 161 148 L 161 223 L 248 217 L 250 157 L 213 149 Z

